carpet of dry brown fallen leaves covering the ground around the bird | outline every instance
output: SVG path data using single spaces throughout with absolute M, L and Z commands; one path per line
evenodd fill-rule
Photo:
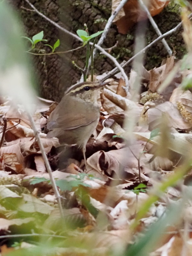
M 170 57 L 161 67 L 144 70 L 138 102 L 126 97 L 122 78 L 109 80 L 98 95 L 101 115 L 86 146 L 86 167 L 75 146 L 63 150 L 56 138 L 46 138 L 47 117 L 57 103 L 38 99 L 33 118 L 60 191 L 64 218 L 25 111 L 1 97 L 1 236 L 22 234 L 17 250 L 33 252 L 36 242 L 42 242 L 43 255 L 45 248 L 51 255 L 108 255 L 123 253 L 127 245 L 128 252 L 133 250 L 140 232 L 164 219 L 161 228 L 154 228 L 159 239 L 149 249 L 151 255 L 180 255 L 182 248 L 191 255 L 192 179 L 185 161 L 192 148 L 192 93 L 180 86 L 191 70 L 178 69 L 159 92 L 175 65 Z M 132 70 L 132 92 L 135 79 Z M 6 239 L 9 245 L 12 238 Z M 4 255 L 8 249 L 1 247 Z

